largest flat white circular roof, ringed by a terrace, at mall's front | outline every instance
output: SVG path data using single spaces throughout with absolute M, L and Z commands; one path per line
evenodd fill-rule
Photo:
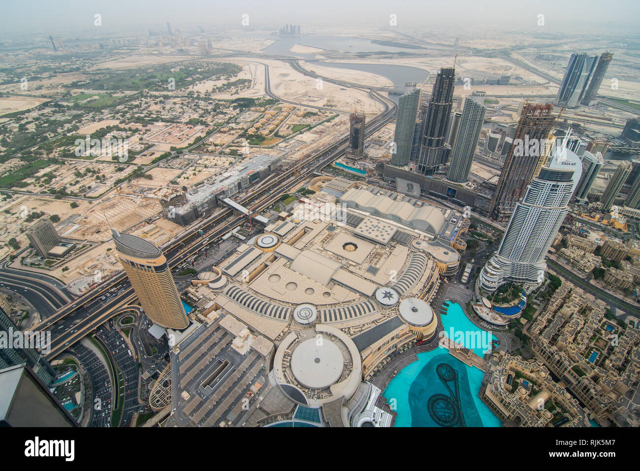
M 339 379 L 343 368 L 338 345 L 326 337 L 321 342 L 316 338 L 305 340 L 291 354 L 293 376 L 307 388 L 328 388 Z

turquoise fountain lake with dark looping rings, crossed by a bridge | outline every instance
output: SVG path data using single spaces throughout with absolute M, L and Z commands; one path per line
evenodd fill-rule
M 481 331 L 482 338 L 490 338 L 455 302 L 441 318 L 449 333 L 451 328 L 454 333 Z M 469 348 L 466 342 L 465 347 Z M 478 396 L 483 376 L 482 370 L 436 348 L 418 354 L 418 361 L 403 368 L 383 396 L 396 406 L 396 427 L 500 427 L 500 419 Z

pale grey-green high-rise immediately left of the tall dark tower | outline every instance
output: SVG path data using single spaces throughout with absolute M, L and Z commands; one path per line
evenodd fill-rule
M 394 134 L 395 153 L 391 156 L 391 165 L 404 167 L 409 163 L 419 103 L 420 89 L 415 87 L 415 82 L 407 82 L 404 95 L 398 99 Z

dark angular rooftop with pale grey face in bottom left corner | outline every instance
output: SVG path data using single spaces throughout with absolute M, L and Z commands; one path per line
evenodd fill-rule
M 0 368 L 0 385 L 0 427 L 78 426 L 28 366 Z

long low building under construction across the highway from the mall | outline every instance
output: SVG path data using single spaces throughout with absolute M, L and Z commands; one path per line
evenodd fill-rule
M 188 226 L 218 208 L 218 199 L 243 192 L 269 176 L 273 170 L 280 167 L 280 163 L 278 157 L 260 154 L 218 175 L 212 182 L 193 188 L 189 192 L 169 192 L 160 200 L 163 216 L 180 226 Z

